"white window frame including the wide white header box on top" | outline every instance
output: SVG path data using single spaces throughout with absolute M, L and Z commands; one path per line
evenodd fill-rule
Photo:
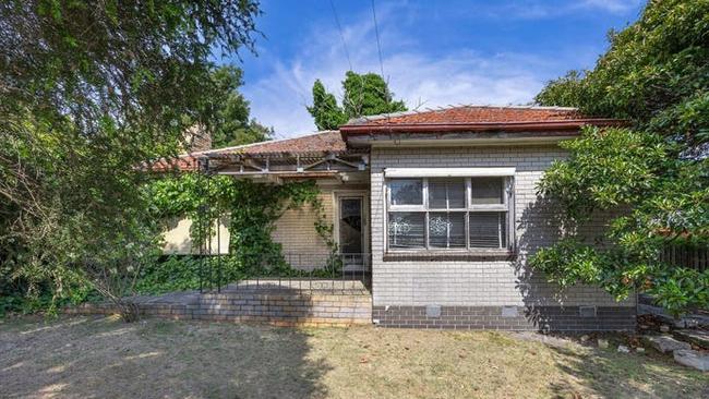
M 384 173 L 384 240 L 386 252 L 388 253 L 431 253 L 431 252 L 445 252 L 445 253 L 509 253 L 515 249 L 515 198 L 514 198 L 514 183 L 515 183 L 515 168 L 394 168 L 386 169 Z M 462 208 L 445 208 L 445 209 L 431 209 L 429 208 L 429 179 L 438 178 L 462 178 L 466 184 L 465 206 Z M 502 204 L 472 204 L 472 179 L 474 178 L 503 178 L 504 195 Z M 421 205 L 392 205 L 392 192 L 389 190 L 389 182 L 393 179 L 421 179 L 423 201 Z M 389 213 L 393 211 L 411 211 L 423 213 L 424 216 L 424 247 L 420 249 L 400 249 L 389 246 Z M 504 247 L 476 247 L 470 246 L 470 213 L 506 213 L 506 246 Z M 431 247 L 429 239 L 429 214 L 430 213 L 465 213 L 465 247 Z M 502 229 L 498 229 L 502 234 Z M 500 237 L 502 239 L 502 237 Z

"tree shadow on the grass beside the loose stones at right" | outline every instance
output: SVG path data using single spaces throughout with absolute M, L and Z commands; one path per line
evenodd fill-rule
M 610 349 L 550 347 L 556 366 L 572 377 L 584 392 L 568 380 L 551 383 L 556 397 L 603 398 L 707 398 L 709 376 L 684 368 L 658 353 L 618 353 Z

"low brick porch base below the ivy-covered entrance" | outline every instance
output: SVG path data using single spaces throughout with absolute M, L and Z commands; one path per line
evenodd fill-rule
M 261 291 L 136 298 L 140 313 L 172 319 L 257 323 L 275 326 L 351 326 L 372 323 L 368 291 Z M 83 304 L 71 314 L 112 314 L 109 303 Z

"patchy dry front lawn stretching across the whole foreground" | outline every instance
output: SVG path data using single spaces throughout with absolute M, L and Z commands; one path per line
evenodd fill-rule
M 709 397 L 708 374 L 614 339 L 20 317 L 0 319 L 0 397 Z

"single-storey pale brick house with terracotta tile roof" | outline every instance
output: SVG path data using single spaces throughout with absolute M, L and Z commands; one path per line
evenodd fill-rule
M 375 324 L 634 329 L 634 298 L 616 302 L 586 286 L 560 291 L 526 264 L 562 233 L 558 208 L 536 192 L 566 156 L 558 143 L 584 125 L 617 123 L 573 108 L 459 106 L 193 154 L 181 167 L 202 158 L 235 178 L 315 180 L 339 251 L 352 255 L 346 267 L 371 270 Z M 273 239 L 288 254 L 327 254 L 313 217 L 287 211 Z

